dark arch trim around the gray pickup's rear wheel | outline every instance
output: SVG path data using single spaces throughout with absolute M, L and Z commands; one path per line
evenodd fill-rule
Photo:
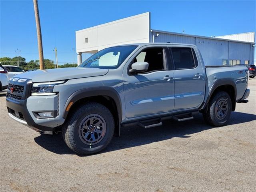
M 232 102 L 232 111 L 236 109 L 236 83 L 231 78 L 223 78 L 220 80 L 216 80 L 212 85 L 209 96 L 206 100 L 206 103 L 203 108 L 203 112 L 207 112 L 208 110 L 208 103 L 210 99 L 214 96 L 214 94 L 218 91 L 225 91 L 231 98 Z

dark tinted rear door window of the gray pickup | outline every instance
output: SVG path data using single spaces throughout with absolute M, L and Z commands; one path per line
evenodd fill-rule
M 171 50 L 176 69 L 194 68 L 196 66 L 191 48 L 172 48 Z

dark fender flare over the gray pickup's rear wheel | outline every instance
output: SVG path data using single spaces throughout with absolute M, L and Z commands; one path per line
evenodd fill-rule
M 203 107 L 203 110 L 207 110 L 208 103 L 209 103 L 210 98 L 212 97 L 212 94 L 214 93 L 214 91 L 218 87 L 223 86 L 223 85 L 231 85 L 234 88 L 235 97 L 234 97 L 234 101 L 232 101 L 232 110 L 233 110 L 233 107 L 235 109 L 235 106 L 236 106 L 236 83 L 234 82 L 234 80 L 232 78 L 222 78 L 222 79 L 216 80 L 216 82 L 214 82 L 214 84 L 212 85 L 212 87 L 209 91 L 209 96 L 206 99 L 205 105 Z

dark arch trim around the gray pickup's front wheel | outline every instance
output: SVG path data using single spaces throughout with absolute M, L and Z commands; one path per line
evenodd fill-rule
M 115 120 L 115 136 L 120 135 L 120 122 L 122 120 L 122 103 L 120 96 L 114 88 L 97 87 L 78 90 L 70 95 L 64 105 L 62 117 L 66 120 L 70 111 L 74 110 L 80 102 L 93 101 L 106 106 L 112 112 Z M 73 102 L 67 111 L 68 104 Z

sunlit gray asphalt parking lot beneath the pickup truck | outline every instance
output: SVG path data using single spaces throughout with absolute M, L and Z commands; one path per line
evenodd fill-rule
M 145 130 L 122 129 L 106 150 L 78 156 L 62 136 L 12 120 L 0 97 L 0 191 L 256 191 L 256 78 L 227 126 L 202 115 Z

